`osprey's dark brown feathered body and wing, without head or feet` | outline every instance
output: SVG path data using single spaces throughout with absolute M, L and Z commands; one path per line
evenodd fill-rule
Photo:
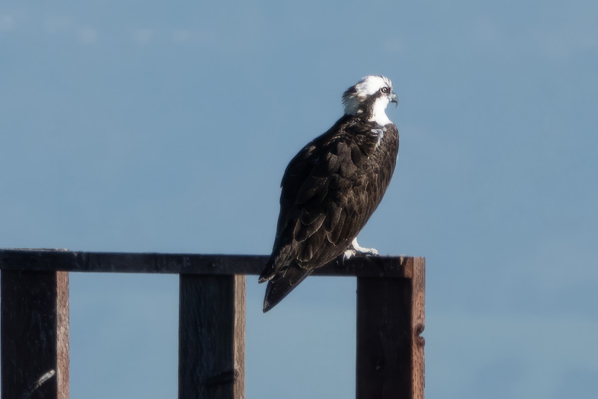
M 270 280 L 265 310 L 313 269 L 341 255 L 364 227 L 394 169 L 394 160 L 388 165 L 376 159 L 381 156 L 374 151 L 377 145 L 379 135 L 370 123 L 341 118 L 289 163 L 282 179 L 273 253 L 260 276 L 260 282 Z M 383 158 L 396 159 L 396 146 L 393 151 Z M 374 161 L 382 162 L 388 172 L 372 169 Z

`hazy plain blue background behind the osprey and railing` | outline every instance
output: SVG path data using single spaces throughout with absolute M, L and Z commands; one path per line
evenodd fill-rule
M 367 74 L 425 256 L 428 398 L 598 397 L 598 2 L 3 1 L 0 246 L 267 254 L 292 156 Z M 248 398 L 349 398 L 355 280 L 263 315 Z M 175 398 L 176 276 L 71 275 L 72 398 Z

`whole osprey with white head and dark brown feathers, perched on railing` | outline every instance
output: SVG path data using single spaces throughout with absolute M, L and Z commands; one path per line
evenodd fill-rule
M 356 237 L 395 169 L 399 133 L 386 116 L 389 102 L 396 95 L 388 78 L 362 78 L 343 94 L 343 117 L 286 167 L 274 248 L 259 280 L 268 281 L 264 312 L 340 255 L 378 254 Z

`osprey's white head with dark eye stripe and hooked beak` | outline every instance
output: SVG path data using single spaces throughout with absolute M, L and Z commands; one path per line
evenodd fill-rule
M 343 94 L 345 114 L 365 114 L 368 120 L 382 126 L 392 123 L 385 112 L 389 102 L 396 103 L 392 82 L 389 78 L 379 75 L 368 75 L 362 78 Z

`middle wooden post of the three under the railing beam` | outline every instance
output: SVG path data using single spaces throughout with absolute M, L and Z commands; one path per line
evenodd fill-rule
M 245 276 L 181 275 L 179 399 L 245 398 Z

